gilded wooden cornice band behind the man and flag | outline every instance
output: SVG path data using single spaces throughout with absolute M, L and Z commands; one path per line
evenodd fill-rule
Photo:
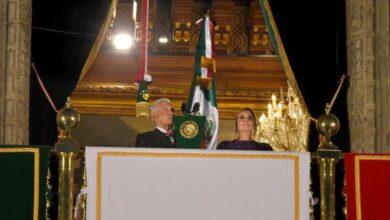
M 189 88 L 149 87 L 151 98 L 169 98 L 175 108 L 180 108 L 188 98 Z M 237 111 L 251 106 L 255 111 L 266 110 L 266 101 L 275 90 L 219 89 L 220 119 L 234 119 Z M 128 85 L 85 85 L 78 87 L 72 94 L 72 105 L 81 114 L 99 115 L 136 115 L 137 87 Z M 256 103 L 256 107 L 253 107 Z

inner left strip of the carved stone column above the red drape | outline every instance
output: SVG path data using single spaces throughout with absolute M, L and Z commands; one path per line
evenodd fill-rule
M 347 1 L 351 150 L 361 152 L 374 151 L 370 147 L 375 145 L 373 6 L 365 0 Z M 360 140 L 359 137 L 365 138 Z

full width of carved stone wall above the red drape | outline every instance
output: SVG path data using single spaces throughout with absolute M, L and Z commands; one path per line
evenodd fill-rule
M 389 0 L 347 0 L 351 151 L 390 151 Z

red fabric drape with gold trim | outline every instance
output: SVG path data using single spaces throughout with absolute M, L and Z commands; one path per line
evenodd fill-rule
M 345 154 L 347 219 L 390 219 L 390 155 Z

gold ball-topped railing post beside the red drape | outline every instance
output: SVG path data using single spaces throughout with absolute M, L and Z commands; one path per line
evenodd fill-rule
M 320 133 L 316 157 L 320 168 L 321 220 L 334 220 L 336 163 L 342 158 L 342 153 L 332 143 L 331 138 L 339 131 L 340 122 L 336 116 L 329 114 L 328 106 L 325 112 L 326 114 L 317 120 L 317 129 Z

